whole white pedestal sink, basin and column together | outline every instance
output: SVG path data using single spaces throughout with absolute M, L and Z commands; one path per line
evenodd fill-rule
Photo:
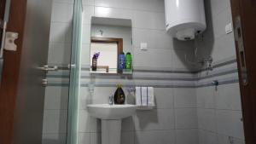
M 92 117 L 102 119 L 102 144 L 120 144 L 121 119 L 136 112 L 135 105 L 88 105 Z

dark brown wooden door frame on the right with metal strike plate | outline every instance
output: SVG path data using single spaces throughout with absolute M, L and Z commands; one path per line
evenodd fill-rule
M 256 1 L 230 0 L 236 33 L 243 124 L 247 144 L 256 143 Z M 241 26 L 239 26 L 241 25 Z

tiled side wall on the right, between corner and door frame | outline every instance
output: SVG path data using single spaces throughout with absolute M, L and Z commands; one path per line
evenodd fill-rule
M 230 0 L 205 1 L 207 9 L 207 32 L 200 44 L 201 55 L 212 55 L 213 61 L 236 60 L 234 33 L 226 34 L 224 27 L 232 22 Z M 214 72 L 237 70 L 236 61 L 219 66 Z M 199 77 L 207 76 L 206 72 Z M 237 72 L 215 75 L 198 81 L 230 81 L 218 87 L 206 86 L 196 89 L 199 144 L 242 144 L 244 143 L 241 121 L 241 98 Z M 232 82 L 233 81 L 233 82 Z

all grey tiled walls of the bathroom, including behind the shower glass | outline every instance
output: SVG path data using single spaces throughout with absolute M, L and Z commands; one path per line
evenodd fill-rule
M 234 38 L 233 33 L 224 33 L 224 26 L 231 20 L 229 4 L 228 0 L 206 1 L 207 32 L 197 42 L 197 58 L 212 55 L 214 69 L 196 73 L 198 67 L 184 60 L 185 54 L 194 60 L 194 43 L 173 40 L 166 33 L 164 0 L 84 0 L 79 144 L 101 143 L 101 122 L 90 117 L 86 105 L 108 103 L 115 84 L 125 85 L 129 103 L 134 103 L 134 97 L 127 93 L 127 86 L 155 88 L 156 108 L 137 111 L 136 115 L 123 120 L 122 144 L 243 143 Z M 71 19 L 68 15 L 72 14 L 72 6 L 69 0 L 54 1 L 49 63 L 69 62 Z M 132 78 L 91 77 L 88 58 L 90 16 L 93 15 L 131 19 L 135 68 Z M 147 51 L 139 49 L 142 42 L 148 43 Z M 48 78 L 44 143 L 64 144 L 68 72 L 49 72 Z M 217 90 L 211 84 L 215 79 L 220 84 Z M 94 86 L 92 94 L 88 84 Z

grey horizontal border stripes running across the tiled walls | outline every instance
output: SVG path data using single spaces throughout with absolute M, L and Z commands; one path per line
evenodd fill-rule
M 214 63 L 214 68 L 218 68 L 218 67 L 222 67 L 222 66 L 228 66 L 230 64 L 236 63 L 236 58 L 232 59 L 232 57 L 230 59 L 227 60 L 223 60 L 220 62 L 215 62 Z M 49 65 L 51 66 L 51 65 Z M 62 68 L 61 68 L 62 66 Z M 61 70 L 68 70 L 68 68 L 65 68 L 65 66 L 60 65 L 59 67 Z M 90 69 L 87 67 L 82 68 L 82 71 L 89 71 Z M 151 73 L 169 73 L 169 74 L 173 74 L 174 76 L 165 76 L 165 77 L 160 77 L 158 78 L 157 76 L 154 76 L 152 78 L 150 77 L 143 77 L 143 76 L 132 76 L 132 75 L 104 75 L 104 74 L 99 74 L 99 75 L 90 75 L 90 73 L 86 73 L 86 74 L 82 74 L 81 78 L 83 79 L 90 79 L 90 78 L 96 78 L 96 79 L 109 79 L 109 80 L 114 80 L 114 79 L 124 79 L 124 80 L 160 80 L 160 81 L 187 81 L 187 82 L 193 82 L 193 81 L 199 81 L 199 80 L 204 80 L 204 79 L 208 79 L 208 78 L 214 78 L 214 77 L 218 77 L 218 76 L 224 76 L 224 75 L 228 75 L 228 74 L 232 74 L 232 73 L 237 73 L 238 70 L 236 67 L 229 67 L 227 69 L 224 70 L 218 70 L 216 72 L 213 72 L 210 75 L 206 75 L 206 76 L 199 76 L 199 77 L 195 77 L 196 74 L 198 75 L 201 72 L 206 72 L 206 69 L 202 69 L 201 71 L 198 72 L 189 72 L 189 71 L 161 71 L 161 70 L 134 70 L 134 72 L 151 72 Z M 180 75 L 178 75 L 180 74 Z M 183 74 L 192 74 L 191 76 L 186 76 L 187 78 L 183 78 Z M 47 74 L 47 78 L 69 78 L 69 72 L 55 72 L 55 73 L 49 73 Z M 131 85 L 126 85 L 126 86 L 132 86 L 134 87 L 136 85 L 136 82 L 134 82 L 135 84 L 131 84 Z M 225 81 L 220 81 L 219 84 L 233 84 L 233 83 L 238 83 L 238 78 L 232 78 L 229 80 L 225 80 Z M 49 86 L 68 86 L 69 84 L 65 84 L 65 83 L 61 83 L 60 82 L 55 82 L 53 84 L 49 83 Z M 81 86 L 85 86 L 87 84 L 81 84 Z M 166 85 L 161 85 L 161 84 L 147 84 L 147 82 L 145 82 L 144 85 L 142 86 L 153 86 L 155 88 L 199 88 L 199 87 L 207 87 L 207 86 L 212 86 L 212 81 L 211 80 L 206 80 L 206 82 L 204 83 L 200 83 L 200 84 L 186 84 L 186 83 L 179 83 L 179 84 L 166 84 Z M 113 87 L 115 86 L 115 84 L 96 84 L 97 87 Z

